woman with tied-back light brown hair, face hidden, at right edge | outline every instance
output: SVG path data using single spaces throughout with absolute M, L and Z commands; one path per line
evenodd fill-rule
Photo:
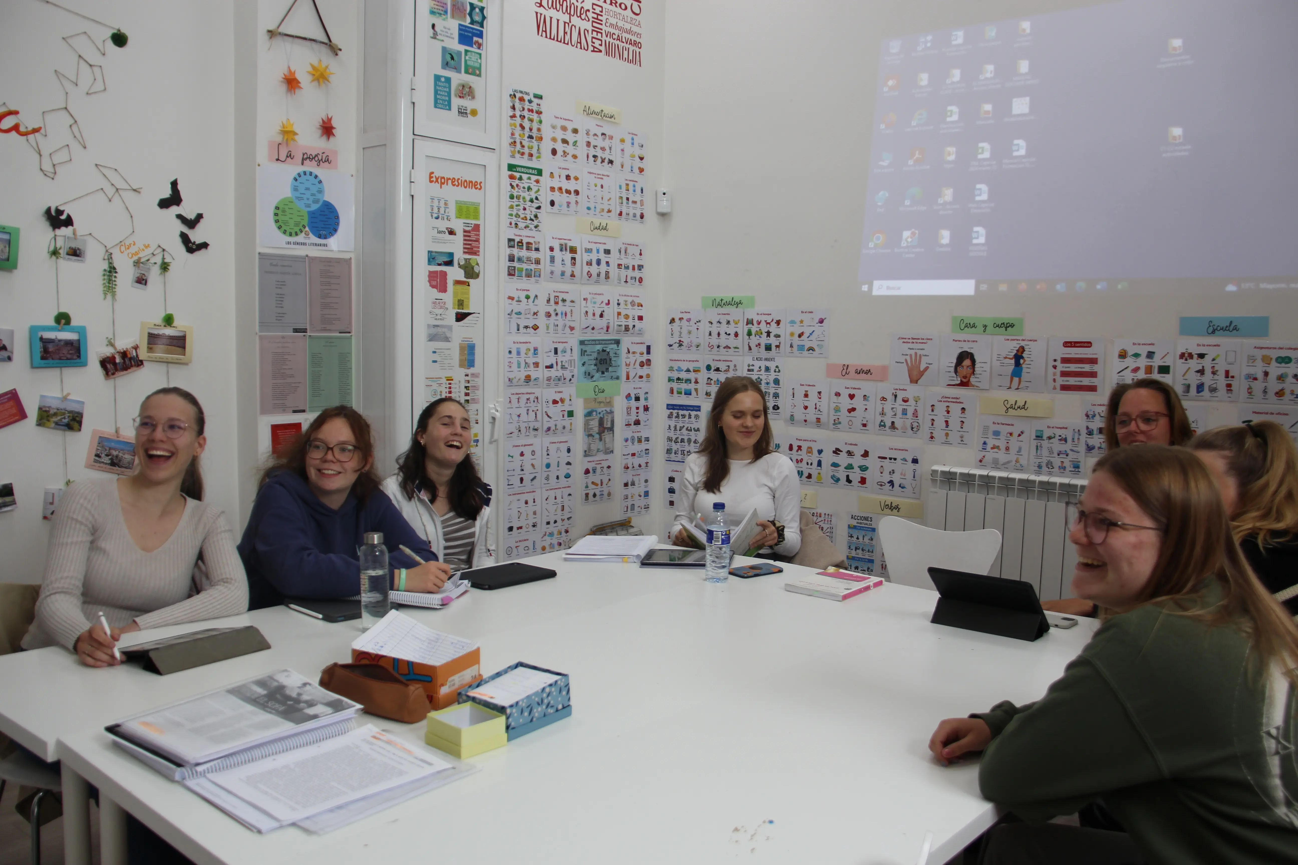
M 1298 616 L 1298 447 L 1284 427 L 1255 420 L 1195 436 L 1231 529 L 1267 591 Z

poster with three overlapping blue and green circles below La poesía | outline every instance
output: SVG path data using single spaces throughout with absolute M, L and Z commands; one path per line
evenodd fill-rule
M 282 249 L 350 252 L 356 179 L 331 169 L 257 169 L 257 240 Z

